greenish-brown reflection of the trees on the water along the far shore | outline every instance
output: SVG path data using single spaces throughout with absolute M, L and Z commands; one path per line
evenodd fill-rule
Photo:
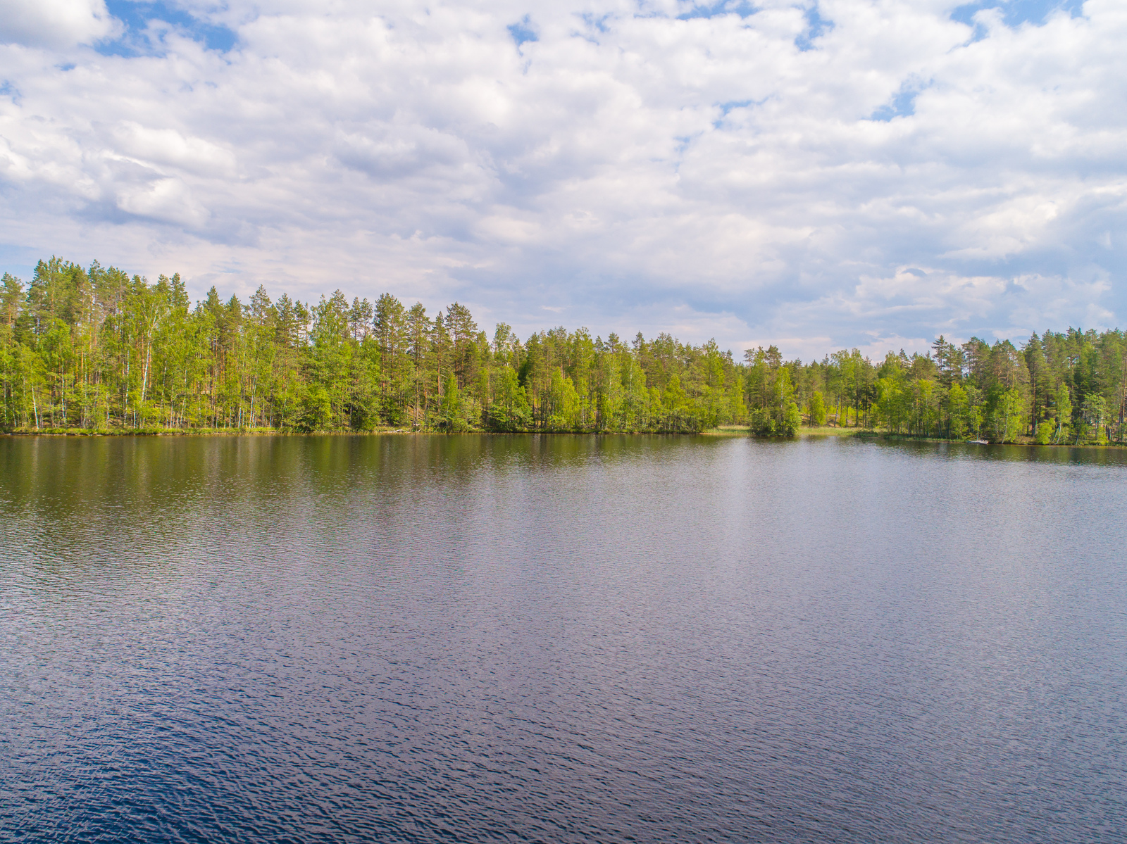
M 694 460 L 736 443 L 764 453 L 805 447 L 662 435 L 7 437 L 0 513 L 15 538 L 9 559 L 60 576 L 220 557 L 344 561 L 381 545 L 390 550 L 373 559 L 391 565 L 405 553 L 392 548 L 400 535 L 416 538 L 412 553 L 449 562 L 467 532 L 496 530 L 499 510 L 533 499 L 567 507 L 591 485 L 619 497 L 677 495 L 669 467 L 692 473 Z M 1098 447 L 838 445 L 872 444 L 920 459 L 1127 465 L 1127 454 Z M 781 482 L 761 479 L 764 495 Z

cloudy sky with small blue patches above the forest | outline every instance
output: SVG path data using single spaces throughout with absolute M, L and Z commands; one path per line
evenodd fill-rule
M 0 270 L 788 357 L 1127 316 L 1127 3 L 0 0 Z

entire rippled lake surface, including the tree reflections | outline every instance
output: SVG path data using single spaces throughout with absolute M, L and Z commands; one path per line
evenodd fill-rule
M 0 839 L 1127 837 L 1127 455 L 0 438 Z

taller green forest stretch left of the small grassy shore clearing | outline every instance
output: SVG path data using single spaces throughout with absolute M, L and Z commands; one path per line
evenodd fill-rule
M 432 318 L 387 293 L 310 306 L 212 288 L 193 306 L 179 276 L 57 258 L 26 290 L 0 282 L 8 429 L 692 432 L 744 420 L 742 368 L 667 335 L 522 343 L 499 325 L 490 341 L 464 305 Z

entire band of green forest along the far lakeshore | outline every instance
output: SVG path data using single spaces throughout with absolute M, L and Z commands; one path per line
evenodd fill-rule
M 699 432 L 806 425 L 948 438 L 1122 442 L 1122 331 L 1036 334 L 1021 347 L 940 337 L 931 354 L 736 361 L 715 341 L 629 343 L 554 328 L 487 335 L 456 302 L 431 316 L 384 293 L 317 303 L 259 287 L 193 304 L 94 263 L 39 261 L 0 286 L 7 430 L 282 429 Z

